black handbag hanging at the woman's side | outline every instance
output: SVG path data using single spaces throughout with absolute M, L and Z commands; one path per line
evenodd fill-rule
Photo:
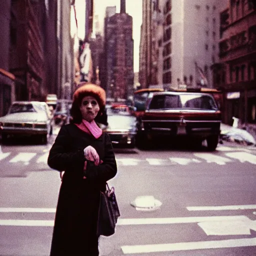
M 112 235 L 115 231 L 115 224 L 119 216 L 120 212 L 114 193 L 114 188 L 111 187 L 110 189 L 106 183 L 105 192 L 100 191 L 97 235 Z

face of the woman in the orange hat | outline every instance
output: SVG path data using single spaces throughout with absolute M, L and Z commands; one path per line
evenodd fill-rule
M 97 100 L 93 96 L 84 96 L 81 101 L 80 111 L 82 118 L 91 122 L 99 111 Z

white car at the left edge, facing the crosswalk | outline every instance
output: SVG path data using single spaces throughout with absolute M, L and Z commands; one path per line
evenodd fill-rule
M 12 136 L 36 136 L 47 143 L 52 133 L 52 115 L 46 102 L 14 101 L 6 115 L 0 117 L 1 141 Z

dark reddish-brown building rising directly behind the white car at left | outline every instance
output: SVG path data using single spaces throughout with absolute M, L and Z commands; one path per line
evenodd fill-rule
M 9 71 L 17 100 L 43 100 L 43 48 L 36 1 L 11 1 Z

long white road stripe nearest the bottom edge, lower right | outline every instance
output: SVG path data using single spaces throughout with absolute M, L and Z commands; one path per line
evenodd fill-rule
M 124 254 L 255 246 L 256 238 L 121 246 Z

